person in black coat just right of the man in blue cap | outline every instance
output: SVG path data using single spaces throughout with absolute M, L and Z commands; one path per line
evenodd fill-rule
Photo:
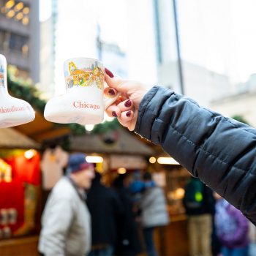
M 122 208 L 113 189 L 101 184 L 101 175 L 95 173 L 86 203 L 91 213 L 91 252 L 89 256 L 113 255 L 120 225 Z

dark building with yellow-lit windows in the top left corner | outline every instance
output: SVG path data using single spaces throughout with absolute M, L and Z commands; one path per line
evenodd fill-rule
M 39 0 L 0 0 L 0 52 L 18 75 L 39 82 Z

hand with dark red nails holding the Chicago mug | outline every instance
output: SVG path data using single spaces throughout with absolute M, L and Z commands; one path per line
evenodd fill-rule
M 108 69 L 105 69 L 105 72 L 105 81 L 110 87 L 105 89 L 105 94 L 116 95 L 117 91 L 121 92 L 119 99 L 110 105 L 106 112 L 108 116 L 115 116 L 121 125 L 133 131 L 137 122 L 141 99 L 148 89 L 141 83 L 114 77 Z

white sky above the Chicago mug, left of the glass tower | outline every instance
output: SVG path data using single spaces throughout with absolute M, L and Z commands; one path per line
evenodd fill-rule
M 148 0 L 61 0 L 56 28 L 56 93 L 63 93 L 63 63 L 73 57 L 97 59 L 97 25 L 104 42 L 127 53 L 127 74 L 148 86 L 157 82 L 154 20 Z M 74 4 L 75 3 L 75 4 Z M 144 15 L 141 15 L 141 14 Z M 50 0 L 40 0 L 40 20 L 50 16 Z

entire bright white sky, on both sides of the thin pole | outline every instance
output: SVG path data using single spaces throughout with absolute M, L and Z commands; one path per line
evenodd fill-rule
M 63 83 L 65 59 L 97 58 L 97 23 L 102 39 L 116 43 L 127 53 L 129 78 L 150 85 L 156 83 L 154 15 L 150 3 L 61 0 L 56 42 L 57 86 Z M 40 4 L 40 20 L 45 20 L 50 15 L 50 0 L 40 0 Z M 255 10 L 255 0 L 178 0 L 182 59 L 228 75 L 231 83 L 245 82 L 255 73 Z

